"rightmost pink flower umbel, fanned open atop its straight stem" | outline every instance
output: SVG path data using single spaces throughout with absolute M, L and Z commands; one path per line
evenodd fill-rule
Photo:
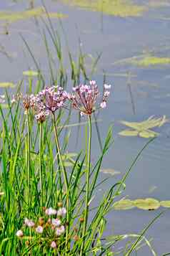
M 89 85 L 79 85 L 73 88 L 74 93 L 69 95 L 69 100 L 72 107 L 79 110 L 81 115 L 91 115 L 99 108 L 106 108 L 107 98 L 109 97 L 109 90 L 111 85 L 104 85 L 104 93 L 101 98 L 101 103 L 96 105 L 99 97 L 99 89 L 96 81 L 90 81 Z

